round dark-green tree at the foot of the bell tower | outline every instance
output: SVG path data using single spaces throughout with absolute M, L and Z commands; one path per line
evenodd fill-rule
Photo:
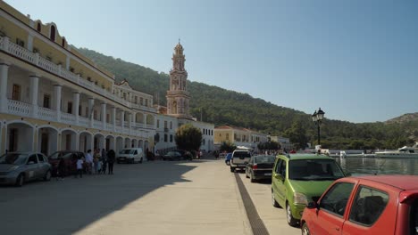
M 202 132 L 195 126 L 186 124 L 177 129 L 174 139 L 180 150 L 199 150 L 202 143 Z

